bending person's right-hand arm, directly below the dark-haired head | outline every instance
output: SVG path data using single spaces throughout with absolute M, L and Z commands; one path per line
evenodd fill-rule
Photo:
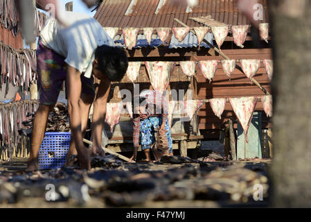
M 102 148 L 102 133 L 105 124 L 107 99 L 110 91 L 111 81 L 107 78 L 100 81 L 98 92 L 93 107 L 92 118 L 92 136 L 93 136 L 93 152 L 101 156 L 105 156 L 105 151 Z

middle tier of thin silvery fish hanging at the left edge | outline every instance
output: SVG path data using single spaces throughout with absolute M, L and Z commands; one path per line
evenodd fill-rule
M 21 87 L 24 93 L 33 80 L 36 80 L 37 58 L 36 53 L 30 49 L 15 50 L 6 44 L 0 44 L 1 73 L 0 91 L 5 85 L 5 96 L 8 94 L 9 84 Z

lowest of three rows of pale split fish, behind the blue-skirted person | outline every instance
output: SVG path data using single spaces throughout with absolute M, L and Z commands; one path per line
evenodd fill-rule
M 236 114 L 238 121 L 240 122 L 245 135 L 249 128 L 249 123 L 251 122 L 251 117 L 256 107 L 256 103 L 260 99 L 263 103 L 263 110 L 267 114 L 267 117 L 272 117 L 272 96 L 247 96 L 239 98 L 229 98 L 229 103 L 233 109 L 233 112 Z M 168 121 L 170 126 L 172 125 L 172 114 L 186 114 L 190 120 L 193 119 L 193 116 L 196 112 L 202 108 L 205 102 L 210 103 L 211 108 L 214 114 L 222 119 L 222 113 L 224 112 L 224 107 L 226 105 L 227 99 L 208 99 L 208 100 L 186 100 L 186 101 L 169 101 L 168 103 Z M 179 105 L 178 105 L 179 104 Z M 177 109 L 179 106 L 179 109 Z M 124 109 L 124 107 L 126 107 Z M 110 130 L 113 133 L 114 126 L 118 124 L 121 119 L 121 114 L 127 113 L 130 117 L 133 117 L 132 114 L 132 103 L 107 103 L 107 114 L 106 122 L 110 126 Z

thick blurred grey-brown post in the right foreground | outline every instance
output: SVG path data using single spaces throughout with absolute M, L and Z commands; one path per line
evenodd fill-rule
M 274 48 L 272 206 L 311 207 L 311 1 L 268 3 Z

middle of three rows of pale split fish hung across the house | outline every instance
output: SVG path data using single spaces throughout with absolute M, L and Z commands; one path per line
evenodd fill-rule
M 243 72 L 251 80 L 258 69 L 260 68 L 260 60 L 240 60 L 240 65 Z M 134 83 L 139 77 L 139 70 L 141 64 L 144 63 L 147 68 L 150 83 L 155 90 L 165 90 L 168 87 L 170 75 L 176 65 L 176 62 L 129 62 L 126 75 Z M 195 61 L 181 61 L 178 62 L 181 70 L 186 76 L 193 77 L 195 75 L 195 69 L 197 62 Z M 210 82 L 215 76 L 215 71 L 218 67 L 218 60 L 206 60 L 199 61 L 199 69 L 201 70 L 203 76 Z M 233 71 L 236 69 L 236 60 L 221 60 L 222 70 L 224 74 L 231 78 Z M 263 60 L 263 65 L 265 66 L 266 73 L 269 80 L 272 80 L 273 76 L 273 61 Z

